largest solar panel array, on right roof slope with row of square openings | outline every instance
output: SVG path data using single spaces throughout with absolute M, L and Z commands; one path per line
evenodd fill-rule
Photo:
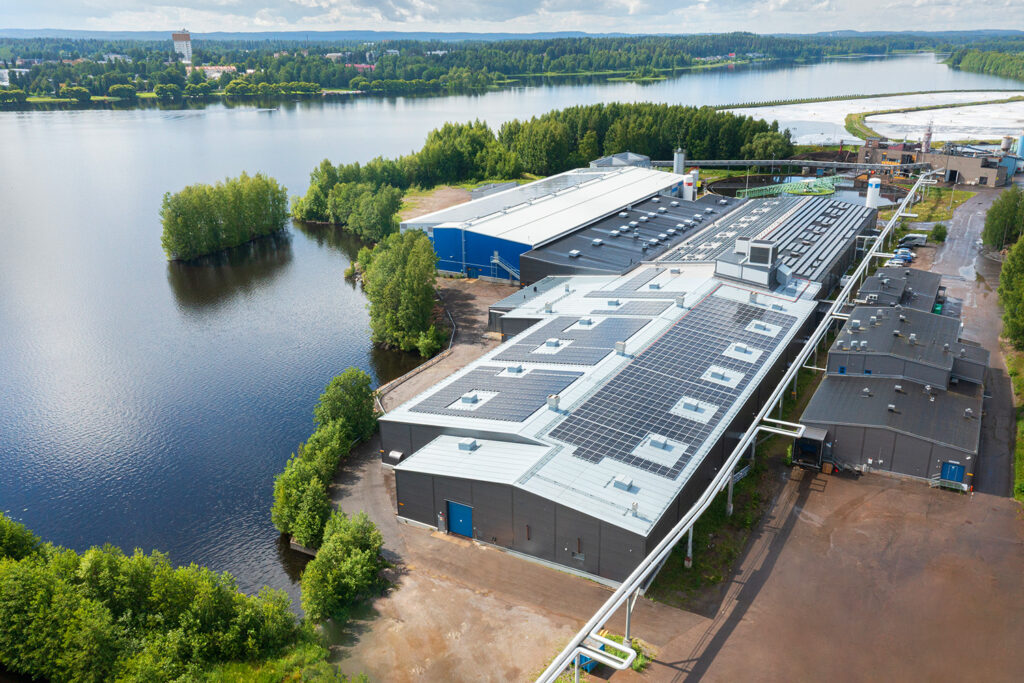
M 761 350 L 761 357 L 767 358 L 786 335 L 767 336 L 745 328 L 760 321 L 790 329 L 797 319 L 764 306 L 709 296 L 575 409 L 550 436 L 577 446 L 575 457 L 591 462 L 611 458 L 674 479 L 740 400 L 760 367 L 723 352 L 738 342 Z M 702 381 L 701 375 L 712 366 L 741 373 L 742 379 L 731 388 Z M 673 414 L 684 396 L 718 410 L 702 422 Z M 634 455 L 648 434 L 685 444 L 686 452 L 671 466 Z

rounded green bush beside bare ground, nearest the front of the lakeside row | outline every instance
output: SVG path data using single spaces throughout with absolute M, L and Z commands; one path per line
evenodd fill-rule
M 383 538 L 366 513 L 347 517 L 335 511 L 324 530 L 324 545 L 302 572 L 302 609 L 312 622 L 342 613 L 380 586 Z

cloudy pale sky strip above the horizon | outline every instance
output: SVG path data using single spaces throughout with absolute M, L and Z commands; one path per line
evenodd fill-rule
M 814 33 L 1024 29 L 1024 0 L 0 0 L 0 28 Z

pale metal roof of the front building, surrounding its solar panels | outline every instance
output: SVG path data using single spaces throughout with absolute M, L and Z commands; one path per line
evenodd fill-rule
M 540 318 L 540 323 L 382 418 L 387 421 L 454 429 L 462 434 L 476 433 L 479 434 L 477 441 L 480 447 L 472 452 L 460 450 L 460 437 L 440 436 L 408 457 L 397 465 L 397 469 L 507 483 L 646 536 L 699 467 L 712 445 L 731 424 L 751 393 L 757 390 L 757 386 L 774 365 L 774 360 L 783 352 L 788 341 L 797 334 L 803 322 L 813 313 L 816 305 L 814 296 L 817 294 L 818 286 L 801 281 L 785 291 L 771 293 L 764 290 L 757 291 L 756 296 L 752 298 L 751 288 L 716 279 L 714 267 L 710 264 L 686 264 L 673 268 L 648 265 L 617 278 L 610 275 L 568 278 L 565 285 L 566 287 L 553 288 L 530 299 L 509 313 L 513 316 Z M 612 303 L 625 306 L 631 301 L 647 304 L 660 302 L 664 305 L 659 312 L 646 315 L 596 312 Z M 633 387 L 628 391 L 629 401 L 646 402 L 648 400 L 646 394 L 649 393 L 651 411 L 659 410 L 665 414 L 664 405 L 655 408 L 657 393 L 672 394 L 668 398 L 670 404 L 677 399 L 682 401 L 686 396 L 697 402 L 712 400 L 708 396 L 701 397 L 694 393 L 699 391 L 702 380 L 698 376 L 703 372 L 703 366 L 685 371 L 687 376 L 682 382 L 673 374 L 678 374 L 685 362 L 694 365 L 693 356 L 701 353 L 712 354 L 707 356 L 709 362 L 730 365 L 727 360 L 721 359 L 721 355 L 714 355 L 718 351 L 714 349 L 708 351 L 702 345 L 707 344 L 707 329 L 719 319 L 716 316 L 728 316 L 728 319 L 721 318 L 723 326 L 726 326 L 739 310 L 742 310 L 748 317 L 753 316 L 751 319 L 767 321 L 769 319 L 767 316 L 777 314 L 778 317 L 773 319 L 792 318 L 792 324 L 785 328 L 768 325 L 762 329 L 760 334 L 771 335 L 772 341 L 764 345 L 763 354 L 758 351 L 759 355 L 751 356 L 753 362 L 746 369 L 745 384 L 732 394 L 731 402 L 724 400 L 725 394 L 718 393 L 719 404 L 712 407 L 711 403 L 700 403 L 702 408 L 708 409 L 703 415 L 708 419 L 714 418 L 714 426 L 706 420 L 708 429 L 699 431 L 699 425 L 695 425 L 697 430 L 691 432 L 693 438 L 688 439 L 686 443 L 677 444 L 683 449 L 682 452 L 671 456 L 666 455 L 664 446 L 659 446 L 663 447 L 662 451 L 656 449 L 651 451 L 651 447 L 643 442 L 635 447 L 631 443 L 626 447 L 633 449 L 638 454 L 637 459 L 633 459 L 628 452 L 622 452 L 622 447 L 616 452 L 616 446 L 608 442 L 598 445 L 595 457 L 595 453 L 587 453 L 587 443 L 560 436 L 558 432 L 560 427 L 564 429 L 574 418 L 579 423 L 579 416 L 582 413 L 588 411 L 593 413 L 591 399 L 598 392 L 615 382 L 621 383 L 631 370 L 636 370 L 631 368 L 632 364 L 643 366 L 644 354 L 647 352 L 664 358 L 667 365 L 663 366 L 663 370 L 666 374 L 662 380 L 644 380 Z M 600 330 L 602 325 L 616 318 L 618 321 L 639 318 L 643 325 L 626 340 L 624 354 L 608 352 L 592 365 L 557 364 L 552 362 L 557 356 L 548 354 L 546 350 L 524 351 L 530 348 L 530 344 L 525 343 L 530 335 L 536 336 L 539 330 L 556 322 L 560 328 L 567 316 L 571 316 L 572 319 L 578 317 L 589 319 L 590 323 L 586 327 L 594 331 Z M 737 328 L 736 324 L 733 324 L 732 329 L 741 330 L 746 323 L 738 325 Z M 753 326 L 754 323 L 750 325 Z M 561 335 L 567 338 L 571 336 L 573 330 L 579 329 L 579 323 L 575 323 L 566 327 Z M 723 336 L 726 342 L 732 341 L 726 338 L 727 333 L 714 334 Z M 742 337 L 741 333 L 739 337 Z M 739 337 L 735 341 L 738 341 Z M 670 338 L 675 340 L 671 344 L 668 343 Z M 577 341 L 564 346 L 565 351 L 586 345 L 585 339 L 583 335 L 578 336 Z M 666 343 L 656 348 L 663 340 Z M 741 344 L 733 346 L 740 347 L 742 352 L 750 352 Z M 676 350 L 672 350 L 673 348 Z M 520 355 L 518 358 L 508 359 L 510 352 Z M 673 353 L 678 354 L 678 357 L 674 357 Z M 723 355 L 729 356 L 730 353 L 732 353 L 731 347 L 724 351 Z M 529 359 L 524 360 L 524 357 Z M 650 357 L 647 361 L 649 366 Z M 709 367 L 709 372 L 715 367 L 717 366 Z M 481 397 L 485 399 L 488 386 L 484 384 L 477 386 L 474 384 L 477 380 L 473 377 L 486 377 L 486 373 L 499 370 L 500 375 L 506 375 L 510 368 L 523 374 L 525 378 L 529 378 L 532 373 L 553 371 L 572 372 L 579 374 L 579 377 L 558 392 L 558 410 L 552 410 L 542 397 L 539 402 L 530 404 L 529 408 L 535 409 L 534 412 L 518 421 L 502 416 L 498 411 L 484 414 L 483 410 L 487 407 L 485 400 L 481 400 L 482 408 L 478 409 L 480 413 L 467 410 L 463 415 L 463 411 L 460 410 L 457 415 L 452 415 L 451 410 L 446 411 L 447 414 L 443 414 L 445 413 L 443 409 L 437 412 L 424 410 L 427 401 L 443 392 L 446 392 L 445 395 L 449 397 L 441 403 L 458 400 L 459 394 L 463 391 L 479 391 Z M 713 379 L 712 382 L 716 380 Z M 718 381 L 721 383 L 724 380 L 720 377 Z M 689 388 L 681 388 L 684 386 Z M 497 383 L 489 386 L 489 389 L 494 390 L 494 393 L 505 390 Z M 680 393 L 680 396 L 676 396 L 673 392 Z M 536 400 L 536 396 L 534 398 Z M 493 400 L 497 401 L 498 398 Z M 520 401 L 523 402 L 527 402 L 527 398 L 524 397 Z M 434 404 L 437 402 L 434 401 Z M 626 403 L 624 408 L 625 405 Z M 593 422 L 595 429 L 604 426 L 597 416 L 594 420 L 596 420 Z M 647 438 L 650 436 L 651 434 L 648 434 Z M 671 452 L 671 449 L 669 451 Z M 678 458 L 678 454 L 683 452 L 688 456 L 688 460 Z M 664 461 L 666 469 L 657 466 L 659 460 Z M 675 469 L 672 469 L 673 467 Z M 624 485 L 624 481 L 629 484 Z

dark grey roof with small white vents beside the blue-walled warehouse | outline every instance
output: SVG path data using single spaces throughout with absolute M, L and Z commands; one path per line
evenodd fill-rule
M 722 200 L 725 204 L 718 204 Z M 618 213 L 591 223 L 519 257 L 545 264 L 548 272 L 620 274 L 638 263 L 652 261 L 684 239 L 695 234 L 711 220 L 731 211 L 738 202 L 731 198 L 687 202 L 674 197 L 655 197 L 638 202 Z M 708 210 L 714 213 L 709 213 Z M 626 215 L 622 215 L 625 213 Z M 701 218 L 694 218 L 699 214 Z M 643 220 L 641 220 L 643 219 Z M 633 223 L 636 223 L 635 225 Z M 600 240 L 600 244 L 594 241 Z M 577 251 L 578 256 L 570 256 Z

